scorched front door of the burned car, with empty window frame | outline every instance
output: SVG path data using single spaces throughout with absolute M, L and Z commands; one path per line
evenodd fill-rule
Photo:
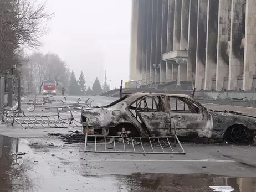
M 211 138 L 212 116 L 197 102 L 187 97 L 168 96 L 172 128 L 177 136 Z

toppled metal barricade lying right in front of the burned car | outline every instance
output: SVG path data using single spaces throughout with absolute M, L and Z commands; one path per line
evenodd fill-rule
M 92 143 L 88 141 L 93 140 Z M 186 154 L 177 136 L 121 137 L 85 135 L 84 152 Z

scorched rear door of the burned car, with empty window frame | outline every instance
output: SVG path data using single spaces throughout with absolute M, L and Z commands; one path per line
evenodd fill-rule
M 136 114 L 145 124 L 150 136 L 168 136 L 170 134 L 170 113 L 161 95 L 149 95 L 141 98 Z

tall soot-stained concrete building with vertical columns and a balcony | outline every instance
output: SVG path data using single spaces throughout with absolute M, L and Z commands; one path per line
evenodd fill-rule
M 255 0 L 132 0 L 131 23 L 130 80 L 256 90 Z

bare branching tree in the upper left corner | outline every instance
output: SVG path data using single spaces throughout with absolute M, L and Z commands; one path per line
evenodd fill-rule
M 53 17 L 45 7 L 31 0 L 0 1 L 0 73 L 19 64 L 17 50 L 42 45 L 40 38 L 48 33 L 45 24 Z

